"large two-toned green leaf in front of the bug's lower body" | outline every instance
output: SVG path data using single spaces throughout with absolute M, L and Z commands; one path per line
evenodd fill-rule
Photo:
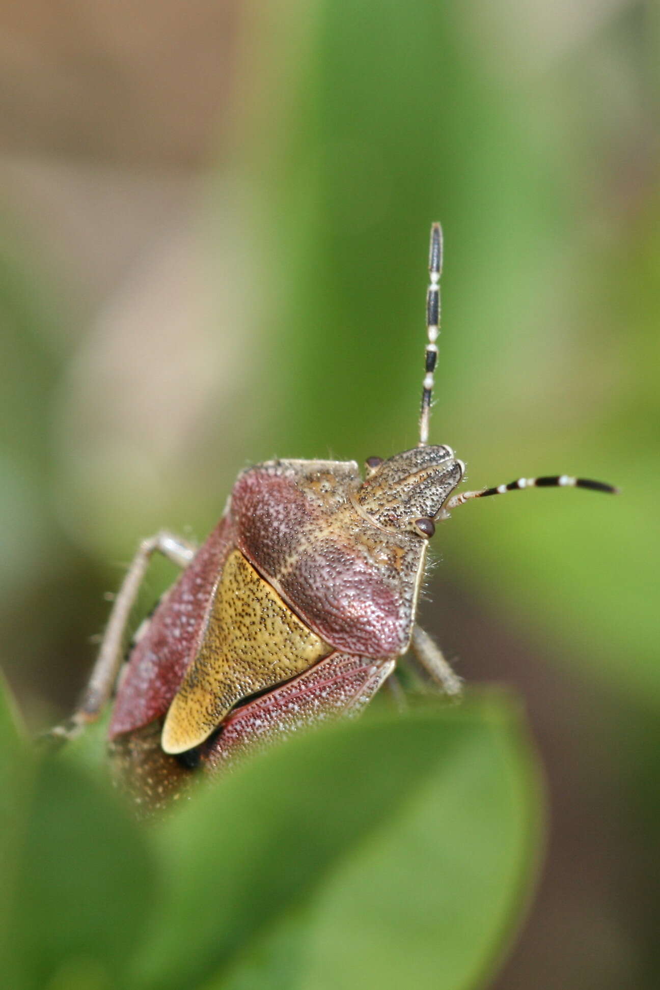
M 331 967 L 328 986 L 357 986 L 359 958 L 360 985 L 401 980 L 413 950 L 416 985 L 439 986 L 448 957 L 454 982 L 442 985 L 467 985 L 459 977 L 483 970 L 508 931 L 538 840 L 516 723 L 487 701 L 333 726 L 196 795 L 159 836 L 165 895 L 141 985 L 173 990 L 215 973 L 220 987 L 231 965 L 229 986 L 284 985 L 301 907 L 308 931 L 290 986 L 316 987 Z

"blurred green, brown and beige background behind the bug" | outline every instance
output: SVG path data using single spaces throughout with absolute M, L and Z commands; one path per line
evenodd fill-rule
M 432 442 L 472 487 L 622 489 L 473 503 L 434 541 L 422 621 L 523 696 L 547 778 L 489 985 L 657 986 L 657 7 L 28 0 L 0 38 L 0 643 L 29 725 L 70 709 L 141 537 L 203 538 L 247 463 L 414 445 L 441 220 Z

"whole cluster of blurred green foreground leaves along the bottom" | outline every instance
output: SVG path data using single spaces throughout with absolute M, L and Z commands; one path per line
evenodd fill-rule
M 2 703 L 16 990 L 459 990 L 528 891 L 539 786 L 505 698 L 300 736 L 150 828 L 91 778 L 81 743 L 31 773 Z

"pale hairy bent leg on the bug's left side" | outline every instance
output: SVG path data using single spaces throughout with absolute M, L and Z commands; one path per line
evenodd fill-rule
M 78 707 L 65 723 L 55 726 L 45 734 L 47 742 L 56 745 L 74 739 L 87 723 L 94 722 L 98 718 L 117 680 L 131 610 L 145 579 L 152 555 L 157 551 L 178 567 L 185 568 L 195 555 L 196 546 L 166 531 L 142 541 L 115 596 L 98 656 Z

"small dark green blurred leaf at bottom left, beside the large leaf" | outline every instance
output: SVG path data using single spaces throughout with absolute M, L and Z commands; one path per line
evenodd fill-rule
M 19 864 L 15 940 L 26 987 L 129 985 L 127 964 L 153 906 L 146 837 L 117 797 L 59 758 L 35 781 Z

